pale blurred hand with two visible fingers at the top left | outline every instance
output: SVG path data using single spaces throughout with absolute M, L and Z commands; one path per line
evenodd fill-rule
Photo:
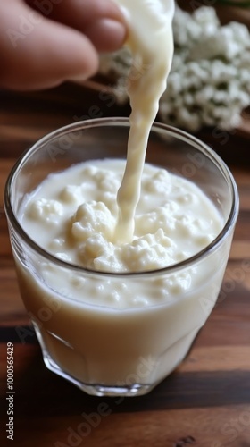
M 99 54 L 119 49 L 125 38 L 112 0 L 1 0 L 0 88 L 84 82 L 97 72 Z

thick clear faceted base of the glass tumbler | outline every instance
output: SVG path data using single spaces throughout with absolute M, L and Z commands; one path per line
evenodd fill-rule
M 127 381 L 115 382 L 114 380 L 114 384 L 112 384 L 111 380 L 110 384 L 108 381 L 106 381 L 106 383 L 100 381 L 100 383 L 98 381 L 98 375 L 95 382 L 93 381 L 91 383 L 90 381 L 84 381 L 84 379 L 87 379 L 87 374 L 85 374 L 87 370 L 85 358 L 81 355 L 78 356 L 77 350 L 74 350 L 69 342 L 65 342 L 62 338 L 54 335 L 54 333 L 43 331 L 37 326 L 35 321 L 33 321 L 33 325 L 37 333 L 37 339 L 42 350 L 44 362 L 50 371 L 54 372 L 56 375 L 62 376 L 64 379 L 71 382 L 71 384 L 76 385 L 81 391 L 87 392 L 89 395 L 110 397 L 142 396 L 151 392 L 155 386 L 160 384 L 167 375 L 170 375 L 186 357 L 198 331 L 196 328 L 195 331 L 184 337 L 184 340 L 180 339 L 177 342 L 178 350 L 176 348 L 176 343 L 172 347 L 169 347 L 165 353 L 166 355 L 162 357 L 162 365 L 161 369 L 158 370 L 158 375 L 156 377 L 155 374 L 154 377 L 151 375 L 151 377 L 154 378 L 151 383 L 146 383 L 146 380 L 145 382 L 141 381 L 143 383 L 139 382 L 139 380 L 135 380 L 132 383 L 127 383 Z M 72 356 L 70 357 L 71 353 Z M 176 355 L 177 353 L 178 355 Z M 67 361 L 64 361 L 65 358 Z M 149 367 L 151 368 L 152 365 L 149 364 Z M 95 375 L 96 374 L 94 374 L 94 376 Z M 133 379 L 135 378 L 139 379 L 140 375 L 136 375 L 136 377 L 133 375 Z

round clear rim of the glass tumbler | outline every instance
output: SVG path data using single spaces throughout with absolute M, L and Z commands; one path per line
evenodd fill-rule
M 223 240 L 225 240 L 226 236 L 229 234 L 230 230 L 234 228 L 234 225 L 237 221 L 237 215 L 239 211 L 239 198 L 237 192 L 237 184 L 234 180 L 232 173 L 229 170 L 228 165 L 222 160 L 221 156 L 219 156 L 212 148 L 210 148 L 206 143 L 204 143 L 201 139 L 196 138 L 195 136 L 187 133 L 187 131 L 179 130 L 178 128 L 162 123 L 162 122 L 154 122 L 152 131 L 162 131 L 162 133 L 167 132 L 168 135 L 173 136 L 176 139 L 181 139 L 187 142 L 189 145 L 196 147 L 202 152 L 205 156 L 208 156 L 213 164 L 220 169 L 220 172 L 223 174 L 225 180 L 229 185 L 229 190 L 231 192 L 231 207 L 229 217 L 227 222 L 223 224 L 223 228 L 221 232 L 216 236 L 212 242 L 210 242 L 204 249 L 199 250 L 195 255 L 191 257 L 187 257 L 186 259 L 179 261 L 178 263 L 171 264 L 170 266 L 165 266 L 162 268 L 154 269 L 154 270 L 144 270 L 140 272 L 106 272 L 100 270 L 93 270 L 87 267 L 78 266 L 75 264 L 71 264 L 59 257 L 55 257 L 51 253 L 47 252 L 46 249 L 41 248 L 37 242 L 29 238 L 29 234 L 25 232 L 19 223 L 16 214 L 12 209 L 12 182 L 15 180 L 16 175 L 19 173 L 21 167 L 26 163 L 29 156 L 35 153 L 39 148 L 42 148 L 46 145 L 46 143 L 51 142 L 53 139 L 56 139 L 59 136 L 66 135 L 71 133 L 71 131 L 79 131 L 83 129 L 93 129 L 95 127 L 104 127 L 104 126 L 123 126 L 129 127 L 129 118 L 127 117 L 107 117 L 107 118 L 95 118 L 86 121 L 72 122 L 71 124 L 67 124 L 55 131 L 51 131 L 47 133 L 41 139 L 38 139 L 30 148 L 25 150 L 21 156 L 18 158 L 16 163 L 12 166 L 12 169 L 7 177 L 5 188 L 4 188 L 4 210 L 7 215 L 9 222 L 14 228 L 15 232 L 21 237 L 21 240 L 29 245 L 33 251 L 37 252 L 40 256 L 45 257 L 48 261 L 54 263 L 54 265 L 70 269 L 74 272 L 79 272 L 80 274 L 92 274 L 97 276 L 110 276 L 110 277 L 142 277 L 142 276 L 155 276 L 158 274 L 174 274 L 179 272 L 180 269 L 186 268 L 188 266 L 192 266 L 196 261 L 202 260 L 204 257 L 210 255 L 215 249 L 217 249 Z

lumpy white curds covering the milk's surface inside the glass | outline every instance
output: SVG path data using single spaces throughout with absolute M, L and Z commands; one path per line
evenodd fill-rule
M 145 164 L 132 240 L 113 241 L 125 165 L 123 160 L 95 160 L 51 174 L 25 201 L 21 225 L 55 257 L 115 273 L 172 266 L 204 249 L 221 232 L 221 216 L 202 190 Z M 105 299 L 96 299 L 105 304 Z M 121 296 L 117 306 L 121 301 L 122 308 L 128 307 L 127 300 Z M 154 299 L 148 301 L 154 304 Z

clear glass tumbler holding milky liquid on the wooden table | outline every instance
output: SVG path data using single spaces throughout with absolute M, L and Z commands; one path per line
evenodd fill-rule
M 73 266 L 41 249 L 21 226 L 25 196 L 49 173 L 86 160 L 126 158 L 129 120 L 77 122 L 40 139 L 14 165 L 4 207 L 21 297 L 43 358 L 55 374 L 89 394 L 136 396 L 150 392 L 186 357 L 218 297 L 238 215 L 236 183 L 211 148 L 184 131 L 155 123 L 146 161 L 194 181 L 218 209 L 221 233 L 179 264 L 153 272 L 99 273 Z M 47 274 L 47 266 L 53 274 Z M 72 282 L 67 285 L 72 275 Z M 189 285 L 165 299 L 162 283 L 187 277 Z M 62 281 L 63 278 L 63 281 Z M 81 281 L 87 287 L 80 287 Z M 154 305 L 118 309 L 94 305 L 91 290 L 154 295 Z M 160 290 L 161 289 L 161 290 Z

